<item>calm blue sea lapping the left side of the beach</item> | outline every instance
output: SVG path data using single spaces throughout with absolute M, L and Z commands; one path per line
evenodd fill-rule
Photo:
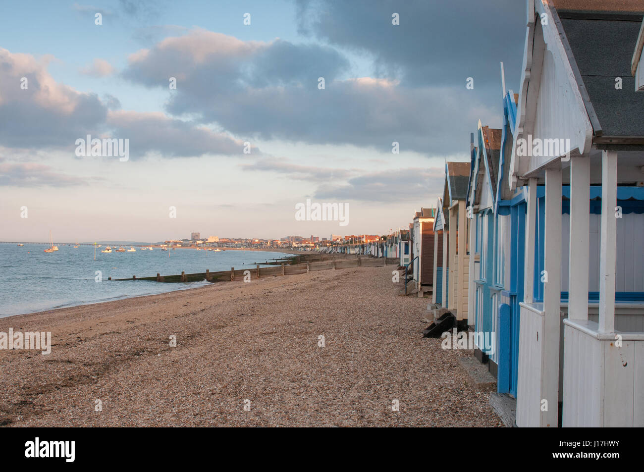
M 92 246 L 59 245 L 60 250 L 46 254 L 44 244 L 0 244 L 0 317 L 31 313 L 52 308 L 84 305 L 139 295 L 199 287 L 207 282 L 156 283 L 155 281 L 108 281 L 108 277 L 131 278 L 249 269 L 254 262 L 285 258 L 282 252 L 176 249 L 163 251 L 100 252 Z M 129 249 L 129 246 L 126 247 Z M 95 272 L 102 272 L 101 283 Z

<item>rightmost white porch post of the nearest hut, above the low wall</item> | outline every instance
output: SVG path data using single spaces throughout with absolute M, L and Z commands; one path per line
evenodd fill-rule
M 615 331 L 615 261 L 617 238 L 617 152 L 603 151 L 601 157 L 601 251 L 600 316 L 601 333 Z

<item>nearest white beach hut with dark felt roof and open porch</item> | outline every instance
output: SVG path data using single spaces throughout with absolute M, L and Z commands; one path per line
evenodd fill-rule
M 518 426 L 644 426 L 644 94 L 625 75 L 644 6 L 589 3 L 527 2 Z

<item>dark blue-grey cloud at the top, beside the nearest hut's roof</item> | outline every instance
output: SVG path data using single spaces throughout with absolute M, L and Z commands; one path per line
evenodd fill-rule
M 396 77 L 405 86 L 464 86 L 466 77 L 475 77 L 498 90 L 499 61 L 506 62 L 508 84 L 520 78 L 522 1 L 297 0 L 296 14 L 303 35 L 366 54 L 377 77 Z

